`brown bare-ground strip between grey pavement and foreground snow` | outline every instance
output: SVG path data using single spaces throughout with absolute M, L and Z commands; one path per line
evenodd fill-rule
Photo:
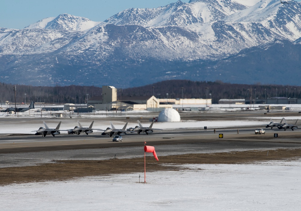
M 159 161 L 147 156 L 147 171 L 178 171 L 179 164 L 237 164 L 256 161 L 296 159 L 301 149 L 278 149 L 209 154 L 160 156 Z M 172 164 L 172 165 L 171 165 Z M 144 158 L 101 161 L 64 160 L 27 167 L 0 169 L 0 185 L 38 181 L 62 181 L 76 177 L 144 172 Z

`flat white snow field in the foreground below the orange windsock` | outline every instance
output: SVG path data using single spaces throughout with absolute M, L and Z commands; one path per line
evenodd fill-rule
M 159 157 L 160 161 L 160 157 Z M 300 210 L 301 159 L 0 187 L 1 210 Z M 139 183 L 139 175 L 140 183 Z

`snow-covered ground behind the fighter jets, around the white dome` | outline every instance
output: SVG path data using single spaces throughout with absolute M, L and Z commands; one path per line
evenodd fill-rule
M 184 105 L 187 106 L 187 105 Z M 255 108 L 258 108 L 259 104 L 255 105 Z M 279 106 L 287 106 L 287 107 L 291 107 L 292 110 L 291 111 L 299 111 L 301 110 L 301 104 L 289 104 L 289 105 L 279 105 Z M 191 107 L 198 107 L 197 105 L 194 105 Z M 245 108 L 246 105 L 235 105 L 235 104 L 231 104 L 231 107 L 229 107 L 229 105 L 227 104 L 212 104 L 210 105 L 210 108 L 212 111 L 214 112 L 229 112 L 229 111 L 238 111 L 241 110 L 241 108 Z M 64 111 L 61 111 L 64 113 Z M 210 111 L 207 111 L 210 112 Z M 241 111 L 244 112 L 244 111 Z M 254 111 L 254 112 L 259 112 L 259 111 Z M 260 111 L 262 112 L 262 111 Z M 273 112 L 273 111 L 272 111 Z M 54 118 L 55 116 L 51 116 L 50 112 L 48 116 L 44 116 L 46 112 L 43 113 L 43 117 L 45 118 L 49 118 L 49 120 L 45 120 L 45 122 L 47 123 L 47 125 L 50 128 L 55 128 L 58 124 L 58 122 L 60 120 L 62 120 L 62 124 L 61 124 L 61 128 L 62 130 L 64 129 L 73 129 L 75 126 L 78 126 L 77 120 L 74 120 L 72 118 L 63 118 L 63 119 L 59 119 L 59 118 Z M 56 112 L 57 113 L 57 112 Z M 159 113 L 159 112 L 158 112 Z M 198 115 L 201 115 L 202 112 L 195 112 L 198 113 Z M 34 133 L 31 132 L 33 130 L 38 130 L 39 127 L 44 127 L 43 125 L 43 120 L 41 120 L 40 122 L 37 121 L 32 121 L 32 122 L 28 122 L 25 120 L 22 120 L 24 118 L 39 118 L 40 117 L 40 113 L 39 112 L 33 112 L 30 111 L 30 115 L 28 115 L 29 112 L 20 112 L 19 113 L 19 117 L 16 117 L 14 115 L 11 114 L 7 114 L 7 113 L 0 113 L 0 120 L 2 118 L 6 119 L 6 118 L 18 118 L 20 120 L 19 123 L 17 123 L 16 125 L 16 121 L 5 121 L 5 124 L 3 124 L 1 126 L 1 130 L 0 130 L 0 134 L 1 133 Z M 271 113 L 272 114 L 272 113 Z M 35 115 L 35 116 L 33 116 Z M 102 120 L 102 118 L 105 117 L 129 117 L 129 118 L 140 118 L 140 117 L 149 117 L 150 119 L 152 119 L 154 116 L 154 113 L 152 112 L 148 112 L 148 111 L 126 111 L 126 112 L 122 112 L 120 114 L 120 112 L 105 112 L 105 111 L 96 111 L 93 113 L 81 113 L 80 117 L 83 118 L 82 120 L 80 120 L 80 123 L 82 124 L 82 126 L 84 127 L 88 127 L 91 124 L 91 119 L 95 120 L 95 123 L 93 125 L 93 128 L 98 128 L 98 129 L 106 129 L 107 127 L 111 127 L 110 126 L 110 122 L 108 120 Z M 68 116 L 68 115 L 67 115 Z M 180 113 L 181 116 L 181 113 Z M 77 117 L 77 115 L 75 114 L 75 116 L 73 117 Z M 90 120 L 87 120 L 85 118 L 89 118 Z M 256 117 L 257 118 L 257 117 Z M 204 128 L 204 126 L 207 127 L 207 129 L 213 129 L 213 128 L 227 128 L 227 127 L 244 127 L 244 126 L 258 126 L 258 127 L 263 127 L 265 124 L 270 123 L 269 118 L 272 118 L 273 121 L 275 122 L 280 122 L 281 121 L 281 117 L 273 117 L 270 116 L 269 117 L 258 117 L 257 119 L 262 119 L 262 120 L 248 120 L 248 121 L 238 121 L 238 120 L 228 120 L 228 121 L 181 121 L 181 122 L 156 122 L 154 123 L 153 128 L 160 128 L 160 129 L 188 129 L 188 128 Z M 299 119 L 300 116 L 298 115 L 298 113 L 296 112 L 296 116 L 291 116 L 291 117 L 285 117 L 286 120 L 289 120 L 289 123 L 294 123 L 297 119 Z M 250 117 L 250 119 L 252 119 Z M 290 122 L 291 121 L 291 122 Z M 124 124 L 126 122 L 124 121 L 113 121 L 113 124 L 116 128 L 123 128 Z M 22 125 L 22 127 L 20 127 L 20 124 Z M 143 123 L 143 126 L 148 127 L 150 123 Z M 131 123 L 129 122 L 127 128 L 130 127 L 135 127 L 137 126 L 137 123 Z M 16 128 L 18 128 L 17 132 L 16 132 Z M 98 131 L 99 132 L 99 131 Z M 94 130 L 94 133 L 98 133 L 96 130 Z M 62 133 L 64 133 L 62 131 Z M 67 133 L 67 132 L 65 132 Z M 101 132 L 99 132 L 101 133 Z

